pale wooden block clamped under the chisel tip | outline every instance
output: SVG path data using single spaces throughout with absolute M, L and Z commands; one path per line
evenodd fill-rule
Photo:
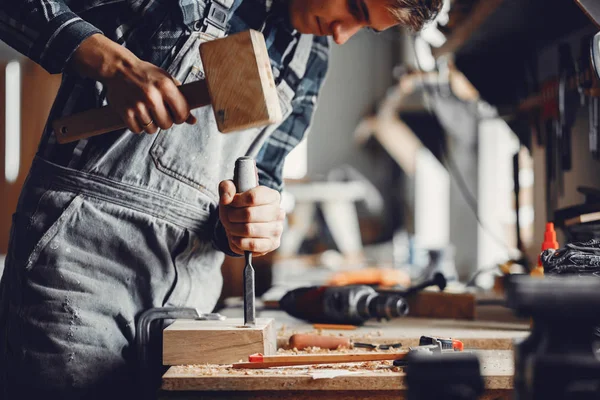
M 271 318 L 244 327 L 240 318 L 225 321 L 178 320 L 163 332 L 163 364 L 233 364 L 250 354 L 273 355 L 277 334 Z

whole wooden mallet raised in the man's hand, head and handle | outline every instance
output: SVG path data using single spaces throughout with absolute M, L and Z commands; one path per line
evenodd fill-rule
M 191 109 L 213 106 L 220 132 L 249 129 L 281 121 L 281 109 L 265 40 L 250 30 L 200 45 L 205 80 L 179 86 Z M 123 129 L 127 125 L 110 107 L 57 119 L 52 127 L 59 143 Z

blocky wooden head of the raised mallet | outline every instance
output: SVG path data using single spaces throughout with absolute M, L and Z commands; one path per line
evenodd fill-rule
M 250 30 L 200 45 L 200 56 L 220 132 L 281 121 L 267 46 Z

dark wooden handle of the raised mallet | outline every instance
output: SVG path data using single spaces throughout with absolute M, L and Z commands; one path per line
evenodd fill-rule
M 181 85 L 179 90 L 190 105 L 190 109 L 210 104 L 205 80 L 186 83 Z M 58 143 L 74 142 L 123 129 L 126 126 L 119 114 L 109 106 L 59 118 L 52 123 Z

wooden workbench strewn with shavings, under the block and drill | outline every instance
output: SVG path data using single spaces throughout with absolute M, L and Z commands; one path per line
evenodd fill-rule
M 229 317 L 237 313 L 225 312 Z M 293 333 L 314 332 L 310 324 L 277 311 L 261 317 L 278 322 L 279 344 L 284 345 Z M 371 343 L 397 343 L 414 346 L 421 335 L 461 339 L 465 349 L 476 349 L 488 399 L 510 398 L 512 393 L 515 339 L 528 335 L 527 324 L 488 321 L 455 321 L 403 318 L 388 323 L 367 324 L 352 331 L 323 331 Z M 331 369 L 335 369 L 332 367 Z M 171 367 L 163 377 L 163 399 L 399 399 L 406 393 L 403 372 L 353 369 L 352 375 L 315 379 L 315 371 L 305 367 L 245 371 L 206 366 Z

